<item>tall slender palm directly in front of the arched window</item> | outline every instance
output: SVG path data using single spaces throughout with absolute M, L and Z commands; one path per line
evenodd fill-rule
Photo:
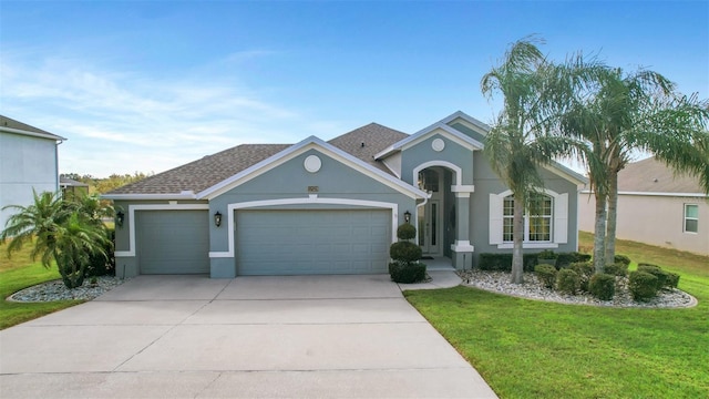
M 538 166 L 553 156 L 572 151 L 568 140 L 542 134 L 553 120 L 553 105 L 562 96 L 551 68 L 532 39 L 511 45 L 501 65 L 487 72 L 482 92 L 504 98 L 503 110 L 485 139 L 484 152 L 493 171 L 510 187 L 514 198 L 512 283 L 523 283 L 524 212 L 543 187 Z

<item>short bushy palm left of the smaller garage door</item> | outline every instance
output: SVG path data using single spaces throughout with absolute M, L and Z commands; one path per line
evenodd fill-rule
M 51 267 L 52 260 L 56 262 L 68 288 L 81 286 L 91 255 L 107 256 L 105 226 L 97 224 L 80 203 L 65 202 L 49 192 L 34 192 L 31 205 L 6 208 L 17 211 L 0 233 L 0 244 L 9 241 L 8 255 L 33 243 L 31 258 L 34 260 L 39 256 L 47 268 Z

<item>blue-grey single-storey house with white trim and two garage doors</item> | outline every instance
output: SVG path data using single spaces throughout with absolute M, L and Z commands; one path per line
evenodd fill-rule
M 424 253 L 456 268 L 511 253 L 511 192 L 482 153 L 487 131 L 462 112 L 413 135 L 372 123 L 328 142 L 244 144 L 129 184 L 103 196 L 121 209 L 116 273 L 387 273 L 407 216 Z M 586 181 L 543 174 L 525 247 L 575 250 Z

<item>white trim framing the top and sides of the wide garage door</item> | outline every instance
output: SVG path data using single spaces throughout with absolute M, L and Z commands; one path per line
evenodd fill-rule
M 235 224 L 234 215 L 235 211 L 258 208 L 265 206 L 279 206 L 279 205 L 354 205 L 369 208 L 382 208 L 391 211 L 391 242 L 397 242 L 397 226 L 399 226 L 399 204 L 387 203 L 380 201 L 367 201 L 354 198 L 320 198 L 312 194 L 307 198 L 280 198 L 280 200 L 263 200 L 263 201 L 248 201 L 243 203 L 228 204 L 227 206 L 227 232 L 228 232 L 228 245 L 229 248 L 226 252 L 209 252 L 209 257 L 235 257 Z M 305 211 L 305 209 L 304 209 Z

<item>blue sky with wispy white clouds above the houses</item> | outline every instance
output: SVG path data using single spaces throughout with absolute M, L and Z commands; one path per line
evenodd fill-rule
M 709 96 L 707 1 L 0 2 L 0 113 L 68 137 L 60 172 L 178 166 L 242 143 L 490 122 L 480 80 L 536 33 Z

